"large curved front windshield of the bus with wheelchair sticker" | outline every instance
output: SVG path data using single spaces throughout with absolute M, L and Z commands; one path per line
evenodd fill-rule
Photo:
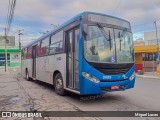
M 90 25 L 84 40 L 84 56 L 90 62 L 133 63 L 132 33 Z

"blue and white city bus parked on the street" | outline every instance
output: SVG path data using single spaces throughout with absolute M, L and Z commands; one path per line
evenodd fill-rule
M 134 87 L 134 49 L 128 21 L 83 12 L 22 48 L 26 78 L 85 95 Z

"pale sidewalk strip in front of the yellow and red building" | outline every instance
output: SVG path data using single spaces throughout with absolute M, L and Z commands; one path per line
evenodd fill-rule
M 144 78 L 153 78 L 153 79 L 160 79 L 160 77 L 159 76 L 157 76 L 157 73 L 156 72 L 144 72 L 144 74 L 143 75 L 138 75 L 137 73 L 136 73 L 136 76 L 137 77 L 144 77 Z

